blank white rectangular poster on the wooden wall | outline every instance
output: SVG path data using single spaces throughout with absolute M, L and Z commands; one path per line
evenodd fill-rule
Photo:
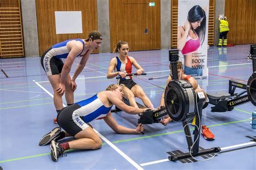
M 55 11 L 56 34 L 83 33 L 82 11 Z

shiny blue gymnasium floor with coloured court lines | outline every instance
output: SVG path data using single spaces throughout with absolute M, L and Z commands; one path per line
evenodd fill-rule
M 252 61 L 247 60 L 249 49 L 250 45 L 235 45 L 220 51 L 218 47 L 210 47 L 207 61 L 209 74 L 205 79 L 198 79 L 199 85 L 207 92 L 228 92 L 230 78 L 247 83 L 252 74 Z M 76 101 L 89 98 L 107 85 L 116 83 L 116 79 L 105 77 L 113 56 L 113 53 L 90 56 L 76 81 Z M 146 76 L 136 77 L 134 81 L 143 87 L 157 107 L 166 77 L 148 78 L 168 75 L 168 50 L 130 52 L 129 56 L 136 58 L 147 72 Z M 71 75 L 78 62 L 76 60 L 73 64 Z M 116 134 L 103 120 L 92 123 L 104 138 L 102 148 L 68 152 L 67 157 L 53 162 L 49 145 L 38 146 L 39 139 L 56 127 L 52 122 L 56 117 L 52 88 L 39 58 L 1 59 L 0 64 L 1 70 L 9 77 L 0 73 L 0 166 L 3 169 L 256 169 L 256 147 L 221 153 L 210 161 L 182 164 L 167 161 L 169 154 L 166 153 L 177 149 L 188 151 L 181 123 L 145 125 L 144 135 L 134 135 Z M 212 113 L 210 107 L 208 105 L 203 110 L 202 121 L 210 127 L 215 140 L 207 141 L 200 135 L 201 147 L 243 144 L 250 142 L 245 135 L 256 135 L 248 119 L 255 108 L 251 103 L 225 113 Z M 113 113 L 113 116 L 120 125 L 136 127 L 136 115 L 119 112 Z

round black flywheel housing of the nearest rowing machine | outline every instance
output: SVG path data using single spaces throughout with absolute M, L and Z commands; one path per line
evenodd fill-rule
M 197 94 L 185 80 L 172 80 L 166 86 L 166 111 L 174 121 L 188 121 L 194 117 Z

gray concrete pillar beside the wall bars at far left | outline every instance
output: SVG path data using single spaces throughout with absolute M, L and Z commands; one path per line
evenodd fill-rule
M 25 57 L 38 57 L 36 1 L 21 0 L 21 11 Z

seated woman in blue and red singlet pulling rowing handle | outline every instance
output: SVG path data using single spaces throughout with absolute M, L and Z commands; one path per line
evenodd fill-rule
M 135 98 L 138 97 L 141 99 L 146 107 L 151 109 L 154 108 L 150 99 L 144 93 L 142 87 L 140 87 L 137 83 L 132 80 L 132 77 L 126 77 L 126 74 L 132 73 L 132 65 L 136 67 L 138 75 L 142 74 L 144 70 L 142 67 L 136 62 L 133 57 L 128 56 L 129 45 L 127 42 L 120 41 L 117 43 L 116 49 L 114 52 L 119 52 L 118 57 L 114 57 L 111 59 L 109 64 L 109 69 L 107 70 L 107 78 L 114 78 L 116 76 L 121 76 L 120 80 L 118 79 L 118 84 L 125 85 L 124 87 L 124 95 L 129 99 L 130 105 L 133 107 L 138 107 Z M 113 72 L 114 71 L 114 72 Z

